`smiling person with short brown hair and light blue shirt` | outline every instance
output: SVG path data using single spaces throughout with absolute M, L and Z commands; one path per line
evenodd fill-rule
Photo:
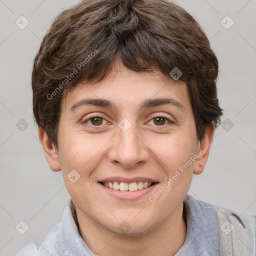
M 256 216 L 187 194 L 220 108 L 218 60 L 167 0 L 83 0 L 62 11 L 32 70 L 45 158 L 70 194 L 21 255 L 255 255 Z

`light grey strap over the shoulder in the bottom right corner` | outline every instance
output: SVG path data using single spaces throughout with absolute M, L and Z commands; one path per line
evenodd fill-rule
M 216 206 L 219 231 L 219 256 L 254 256 L 256 216 L 237 216 Z

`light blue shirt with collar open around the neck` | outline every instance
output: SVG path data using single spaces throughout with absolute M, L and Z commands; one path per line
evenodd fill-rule
M 30 242 L 14 256 L 95 256 L 79 234 L 70 202 L 71 199 L 65 206 L 60 222 L 46 234 L 38 250 Z M 219 234 L 215 206 L 188 194 L 183 205 L 187 233 L 184 244 L 175 256 L 218 256 Z M 254 231 L 256 237 L 256 222 Z

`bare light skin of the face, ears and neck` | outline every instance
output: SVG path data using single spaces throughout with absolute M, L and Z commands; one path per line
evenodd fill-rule
M 143 100 L 156 97 L 171 97 L 183 105 L 184 111 L 169 104 L 140 109 Z M 84 98 L 105 98 L 118 108 L 84 105 L 70 111 Z M 92 113 L 103 116 L 101 126 L 95 125 L 93 119 L 87 120 Z M 174 123 L 161 119 L 159 124 L 154 115 Z M 131 124 L 126 131 L 118 127 L 123 118 Z M 80 234 L 99 256 L 170 256 L 179 250 L 186 236 L 183 200 L 192 174 L 203 171 L 213 133 L 212 123 L 203 139 L 197 140 L 185 82 L 167 78 L 157 70 L 137 73 L 119 62 L 103 81 L 80 83 L 64 94 L 58 149 L 39 127 L 49 167 L 62 170 L 76 206 Z M 197 159 L 158 198 L 149 201 L 149 196 L 197 151 Z M 80 174 L 74 183 L 67 178 L 72 169 Z M 119 199 L 97 183 L 112 176 L 148 177 L 158 184 L 137 199 Z M 123 221 L 130 227 L 126 233 L 118 228 Z

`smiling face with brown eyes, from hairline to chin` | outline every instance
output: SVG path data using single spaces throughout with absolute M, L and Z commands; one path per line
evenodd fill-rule
M 116 66 L 64 95 L 58 150 L 46 158 L 62 170 L 78 219 L 138 234 L 182 207 L 208 147 L 197 141 L 185 82 Z

